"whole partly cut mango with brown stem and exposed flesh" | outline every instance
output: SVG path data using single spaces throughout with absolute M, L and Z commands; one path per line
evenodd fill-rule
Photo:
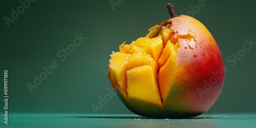
M 154 118 L 188 118 L 206 112 L 224 83 L 214 37 L 197 19 L 173 16 L 110 56 L 108 77 L 125 106 Z M 170 9 L 171 8 L 171 9 Z

